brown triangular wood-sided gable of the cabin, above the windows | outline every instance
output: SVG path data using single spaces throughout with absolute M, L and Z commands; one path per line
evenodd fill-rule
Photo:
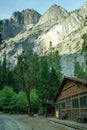
M 84 92 L 87 92 L 86 85 L 67 80 L 57 99 L 57 102 Z

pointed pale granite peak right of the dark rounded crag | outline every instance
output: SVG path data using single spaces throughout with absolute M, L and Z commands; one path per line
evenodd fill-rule
M 42 15 L 38 24 L 46 24 L 48 26 L 50 23 L 52 25 L 61 22 L 68 15 L 69 13 L 64 8 L 54 4 Z

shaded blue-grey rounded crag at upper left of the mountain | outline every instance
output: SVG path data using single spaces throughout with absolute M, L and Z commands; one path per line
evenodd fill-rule
M 3 20 L 3 39 L 15 37 L 18 33 L 26 31 L 38 22 L 40 16 L 33 9 L 14 12 L 9 20 Z

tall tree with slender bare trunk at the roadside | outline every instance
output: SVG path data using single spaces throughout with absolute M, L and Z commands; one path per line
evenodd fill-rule
M 18 58 L 18 64 L 15 68 L 15 73 L 22 82 L 23 89 L 27 97 L 28 115 L 30 115 L 30 90 L 35 86 L 38 72 L 38 56 L 31 50 L 26 55 Z

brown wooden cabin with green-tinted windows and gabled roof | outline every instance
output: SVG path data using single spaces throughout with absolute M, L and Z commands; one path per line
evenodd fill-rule
M 87 80 L 64 77 L 54 103 L 56 118 L 76 120 L 87 114 Z

